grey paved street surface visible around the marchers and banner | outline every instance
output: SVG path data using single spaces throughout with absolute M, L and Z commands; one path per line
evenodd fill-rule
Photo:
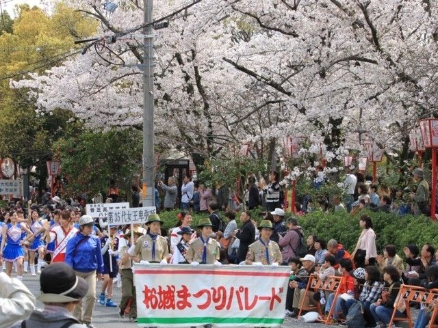
M 23 282 L 34 293 L 40 295 L 40 283 L 38 277 L 32 277 L 29 274 L 23 276 Z M 98 282 L 97 290 L 100 293 L 101 282 Z M 120 302 L 120 288 L 114 288 L 114 302 Z M 37 303 L 38 308 L 42 307 L 42 303 Z M 118 308 L 106 308 L 105 306 L 96 303 L 92 323 L 97 328 L 120 328 L 120 327 L 137 327 L 135 323 L 130 323 L 127 319 L 118 317 Z M 282 327 L 330 327 L 321 324 L 304 324 L 299 320 L 287 318 Z M 334 326 L 332 326 L 334 327 Z

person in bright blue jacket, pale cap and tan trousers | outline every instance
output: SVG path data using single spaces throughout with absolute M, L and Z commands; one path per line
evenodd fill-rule
M 66 247 L 66 264 L 75 270 L 78 277 L 88 282 L 85 312 L 82 316 L 82 300 L 75 308 L 74 316 L 88 328 L 91 324 L 94 303 L 96 302 L 96 271 L 99 279 L 103 279 L 103 258 L 99 238 L 92 236 L 94 220 L 90 215 L 83 215 L 79 219 L 79 232 L 73 236 Z

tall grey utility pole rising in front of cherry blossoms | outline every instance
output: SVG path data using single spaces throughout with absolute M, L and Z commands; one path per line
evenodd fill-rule
M 143 0 L 143 206 L 154 206 L 153 0 Z

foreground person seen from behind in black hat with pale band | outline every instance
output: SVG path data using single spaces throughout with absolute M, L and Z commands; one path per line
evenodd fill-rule
M 83 328 L 71 312 L 86 295 L 87 282 L 75 276 L 75 271 L 65 263 L 54 263 L 40 275 L 41 295 L 36 299 L 44 303 L 43 310 L 34 310 L 26 320 L 12 328 Z

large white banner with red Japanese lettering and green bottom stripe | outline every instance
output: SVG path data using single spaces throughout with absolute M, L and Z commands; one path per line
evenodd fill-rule
M 135 265 L 138 324 L 281 327 L 289 267 Z

